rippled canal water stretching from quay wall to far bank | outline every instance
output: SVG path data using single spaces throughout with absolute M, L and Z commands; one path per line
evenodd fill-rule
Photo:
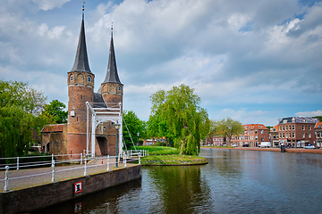
M 201 149 L 203 166 L 142 178 L 35 213 L 322 213 L 322 154 Z

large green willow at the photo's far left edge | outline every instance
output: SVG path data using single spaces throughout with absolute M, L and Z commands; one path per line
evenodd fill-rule
M 0 157 L 28 154 L 33 130 L 51 122 L 41 114 L 46 99 L 26 83 L 0 79 Z

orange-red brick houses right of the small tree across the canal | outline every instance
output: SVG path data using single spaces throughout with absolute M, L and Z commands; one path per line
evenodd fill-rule
M 263 124 L 247 124 L 243 128 L 243 135 L 233 136 L 232 144 L 258 146 L 261 142 L 269 142 L 269 130 Z

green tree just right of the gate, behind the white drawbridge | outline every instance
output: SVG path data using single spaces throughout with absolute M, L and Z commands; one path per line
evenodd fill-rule
M 125 123 L 126 123 L 126 126 L 125 126 Z M 123 139 L 126 144 L 126 148 L 131 147 L 132 141 L 134 145 L 138 144 L 138 133 L 140 133 L 140 139 L 145 138 L 146 122 L 143 120 L 140 120 L 138 116 L 134 113 L 134 111 L 124 110 L 123 111 Z

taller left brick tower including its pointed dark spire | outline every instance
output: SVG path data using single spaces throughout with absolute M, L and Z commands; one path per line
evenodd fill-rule
M 86 102 L 93 102 L 94 74 L 89 69 L 86 48 L 84 12 L 82 13 L 80 38 L 75 62 L 67 78 L 68 85 L 68 129 L 67 153 L 80 154 L 87 148 L 87 109 Z

